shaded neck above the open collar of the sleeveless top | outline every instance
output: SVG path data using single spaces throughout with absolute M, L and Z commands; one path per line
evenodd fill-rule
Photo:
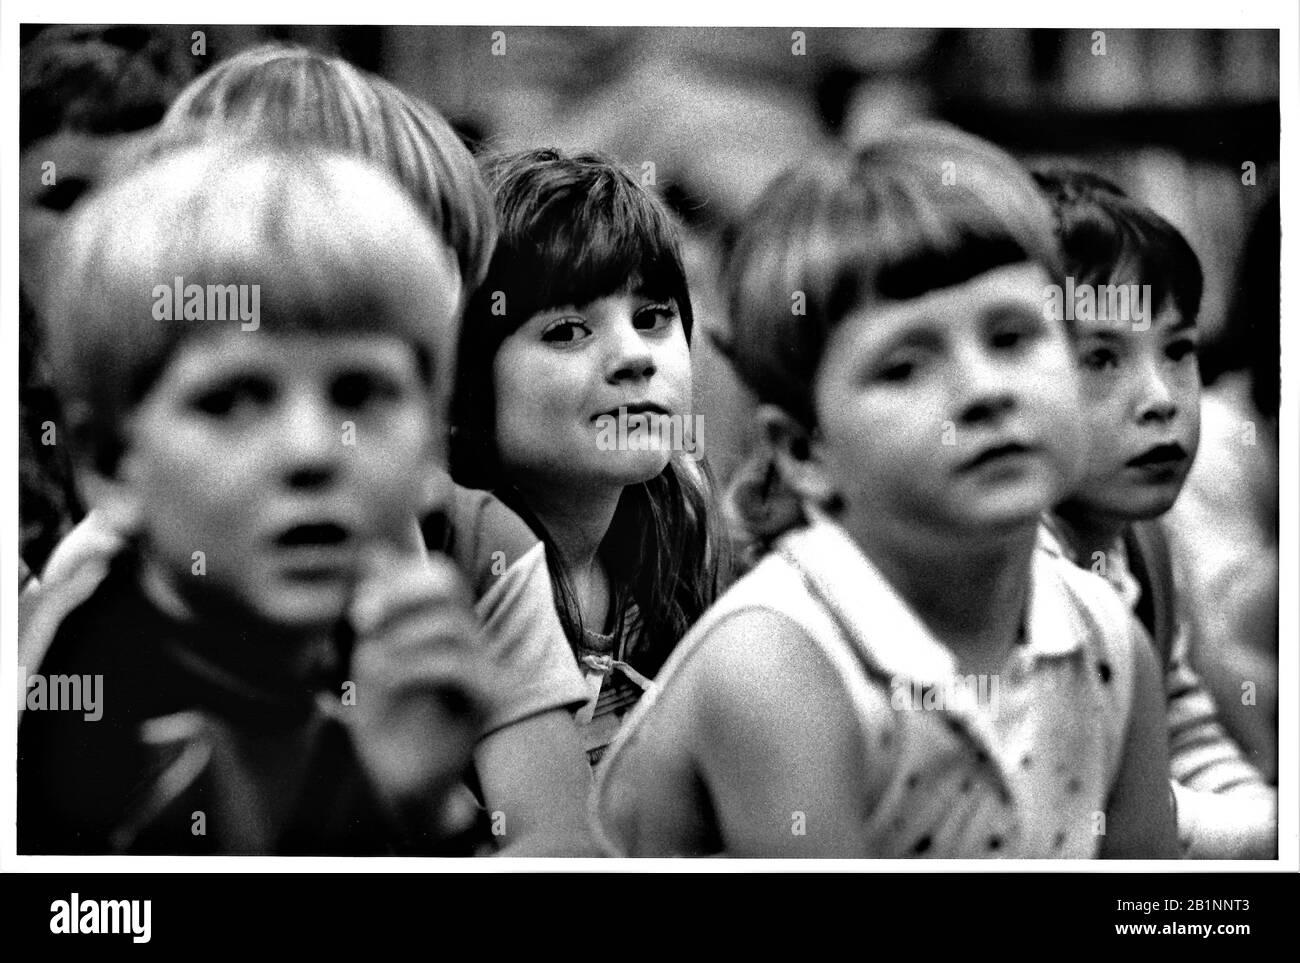
M 1036 529 L 957 546 L 897 534 L 855 541 L 963 672 L 996 672 L 1024 628 Z

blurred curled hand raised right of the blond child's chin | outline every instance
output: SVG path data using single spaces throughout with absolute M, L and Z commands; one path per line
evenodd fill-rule
M 443 556 L 376 550 L 348 616 L 356 629 L 343 719 L 385 801 L 438 830 L 447 790 L 482 721 L 480 626 L 460 572 Z

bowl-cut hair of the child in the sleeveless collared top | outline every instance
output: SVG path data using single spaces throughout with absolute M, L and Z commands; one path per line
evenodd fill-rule
M 811 428 L 822 353 L 846 316 L 1024 261 L 1062 278 L 1028 173 L 954 127 L 913 127 L 767 187 L 729 243 L 722 347 L 760 402 Z

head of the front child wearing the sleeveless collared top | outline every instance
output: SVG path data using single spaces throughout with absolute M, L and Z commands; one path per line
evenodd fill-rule
M 731 244 L 725 346 L 783 481 L 862 538 L 1032 526 L 1078 472 L 1061 277 L 1028 173 L 956 129 L 784 174 Z

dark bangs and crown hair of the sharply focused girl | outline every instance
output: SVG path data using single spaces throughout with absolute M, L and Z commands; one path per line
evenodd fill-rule
M 672 216 L 614 161 L 526 151 L 489 161 L 488 182 L 499 234 L 478 307 L 490 309 L 493 296 L 504 294 L 506 313 L 498 316 L 514 330 L 540 311 L 590 304 L 634 278 L 641 294 L 677 302 L 690 339 L 694 318 Z

